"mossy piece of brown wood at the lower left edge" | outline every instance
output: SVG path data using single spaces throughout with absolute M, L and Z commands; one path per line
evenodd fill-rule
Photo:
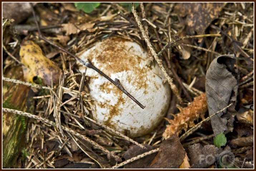
M 13 67 L 5 77 L 23 80 L 22 68 Z M 34 95 L 28 86 L 3 81 L 3 107 L 29 112 L 30 96 Z M 28 100 L 28 101 L 27 101 Z M 11 168 L 18 159 L 27 119 L 12 113 L 3 112 L 3 167 Z

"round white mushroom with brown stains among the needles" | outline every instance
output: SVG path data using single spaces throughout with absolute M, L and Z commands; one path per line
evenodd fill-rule
M 148 67 L 148 53 L 136 42 L 118 37 L 96 42 L 79 56 L 111 79 L 119 79 L 123 87 L 141 104 L 142 109 L 105 77 L 91 68 L 88 86 L 94 100 L 93 119 L 122 134 L 134 138 L 150 133 L 165 116 L 170 103 L 170 87 L 156 64 Z M 85 66 L 78 62 L 79 71 Z

